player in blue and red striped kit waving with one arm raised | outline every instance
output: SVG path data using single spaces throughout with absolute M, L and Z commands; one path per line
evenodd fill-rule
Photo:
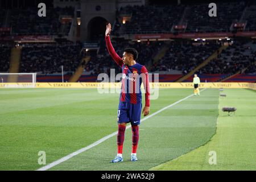
M 148 82 L 148 72 L 146 67 L 136 63 L 138 52 L 134 48 L 127 48 L 123 52 L 123 57 L 119 57 L 110 42 L 111 24 L 106 26 L 106 47 L 115 63 L 122 68 L 122 89 L 119 98 L 117 111 L 118 134 L 117 134 L 117 156 L 112 163 L 122 162 L 123 140 L 125 139 L 126 123 L 131 123 L 132 151 L 131 161 L 137 161 L 137 146 L 139 141 L 139 124 L 141 122 L 141 113 L 144 116 L 150 111 L 150 88 Z M 142 110 L 141 84 L 145 89 L 145 106 Z

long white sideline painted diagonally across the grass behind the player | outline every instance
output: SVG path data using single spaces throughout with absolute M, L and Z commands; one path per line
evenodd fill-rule
M 205 88 L 205 89 L 206 89 L 206 88 Z M 202 91 L 204 91 L 205 89 L 200 90 L 200 91 L 202 92 Z M 163 109 L 160 109 L 159 111 L 156 111 L 155 113 L 153 113 L 153 114 L 151 114 L 151 115 L 148 115 L 147 117 L 144 117 L 143 119 L 141 119 L 141 122 L 145 121 L 145 120 L 148 119 L 148 118 L 153 117 L 154 115 L 156 115 L 156 114 L 162 112 L 163 110 L 168 109 L 169 107 L 172 107 L 172 106 L 174 106 L 174 105 L 176 105 L 176 104 L 179 104 L 181 101 L 184 101 L 184 100 L 186 100 L 187 98 L 189 98 L 189 97 L 191 97 L 191 96 L 193 96 L 193 95 L 194 95 L 194 94 L 191 94 L 190 96 L 185 97 L 185 98 L 183 98 L 183 99 L 181 99 L 181 100 L 179 100 L 179 101 L 177 101 L 177 102 L 174 102 L 174 103 L 171 104 L 171 105 L 168 105 L 168 106 L 166 106 L 166 107 L 163 107 Z M 131 125 L 126 126 L 126 129 L 129 129 L 130 127 L 131 127 Z M 46 165 L 46 166 L 44 166 L 44 167 L 42 167 L 42 168 L 39 168 L 39 169 L 37 169 L 36 171 L 46 171 L 46 170 L 49 169 L 49 168 L 52 168 L 52 167 L 54 167 L 54 166 L 57 166 L 58 164 L 60 164 L 60 163 L 62 163 L 62 162 L 64 162 L 64 161 L 66 161 L 66 160 L 72 158 L 73 156 L 76 156 L 76 155 L 78 155 L 78 154 L 80 154 L 80 153 L 82 153 L 82 152 L 84 152 L 84 151 L 86 151 L 86 150 L 89 150 L 89 149 L 92 148 L 92 147 L 97 146 L 98 144 L 100 144 L 100 143 L 104 142 L 105 140 L 107 140 L 107 139 L 113 137 L 114 135 L 117 135 L 117 133 L 118 133 L 118 131 L 115 131 L 114 133 L 112 133 L 112 134 L 110 134 L 110 135 L 108 135 L 108 136 L 106 136 L 106 137 L 104 137 L 104 138 L 101 138 L 100 140 L 97 140 L 97 142 L 94 142 L 94 143 L 90 144 L 90 145 L 87 146 L 87 147 L 81 148 L 80 150 L 77 150 L 77 151 L 73 152 L 72 154 L 69 154 L 69 155 L 67 155 L 67 156 L 64 156 L 63 158 L 61 158 L 61 159 L 59 159 L 59 160 L 56 160 L 55 162 L 52 162 L 52 163 L 50 163 L 50 164 L 48 164 L 48 165 Z

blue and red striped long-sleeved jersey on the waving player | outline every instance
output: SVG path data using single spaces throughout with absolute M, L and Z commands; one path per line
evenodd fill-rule
M 122 88 L 120 93 L 121 102 L 139 104 L 142 102 L 141 84 L 145 89 L 145 106 L 150 106 L 150 87 L 148 81 L 148 71 L 141 64 L 132 66 L 123 64 L 122 58 L 115 52 L 110 37 L 106 36 L 106 46 L 115 63 L 122 68 Z

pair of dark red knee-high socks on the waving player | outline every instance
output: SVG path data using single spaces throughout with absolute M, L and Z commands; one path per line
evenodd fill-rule
M 122 154 L 123 153 L 123 141 L 125 140 L 125 129 L 126 126 L 118 125 L 118 134 L 117 134 L 117 153 Z M 139 142 L 139 126 L 134 125 L 131 126 L 131 131 L 133 133 L 132 137 L 132 151 L 131 153 L 136 154 L 137 153 L 137 146 Z

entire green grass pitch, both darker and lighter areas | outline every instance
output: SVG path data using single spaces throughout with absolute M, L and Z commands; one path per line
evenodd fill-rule
M 150 113 L 192 92 L 160 89 Z M 256 92 L 222 93 L 227 97 L 206 89 L 143 121 L 138 162 L 130 162 L 127 129 L 122 163 L 110 163 L 117 152 L 114 136 L 49 170 L 255 170 Z M 49 164 L 114 133 L 118 102 L 119 94 L 97 89 L 0 89 L 0 170 L 36 170 L 43 167 L 39 151 Z M 236 114 L 229 117 L 223 106 L 237 107 Z M 208 163 L 209 151 L 216 151 L 216 165 Z

